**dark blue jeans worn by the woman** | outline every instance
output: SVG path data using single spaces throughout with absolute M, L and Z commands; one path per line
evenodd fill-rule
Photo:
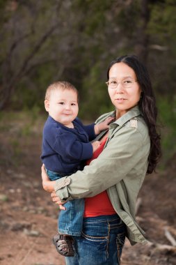
M 83 218 L 81 236 L 74 238 L 74 257 L 67 265 L 120 265 L 126 225 L 118 215 Z

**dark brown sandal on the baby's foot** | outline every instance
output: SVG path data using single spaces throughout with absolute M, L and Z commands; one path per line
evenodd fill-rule
M 74 250 L 73 250 L 74 241 L 72 239 L 72 236 L 65 234 L 56 234 L 56 236 L 54 236 L 53 238 L 53 243 L 59 254 L 65 257 L 74 256 Z

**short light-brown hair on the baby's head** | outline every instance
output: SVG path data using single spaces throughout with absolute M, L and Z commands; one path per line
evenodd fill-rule
M 78 93 L 76 87 L 67 81 L 57 81 L 57 82 L 50 84 L 47 87 L 47 91 L 45 93 L 45 100 L 49 100 L 49 98 L 51 96 L 51 92 L 56 91 L 58 89 L 61 89 L 61 90 L 68 89 L 68 90 L 74 91 L 75 93 L 77 93 L 77 98 L 79 100 L 79 93 Z

